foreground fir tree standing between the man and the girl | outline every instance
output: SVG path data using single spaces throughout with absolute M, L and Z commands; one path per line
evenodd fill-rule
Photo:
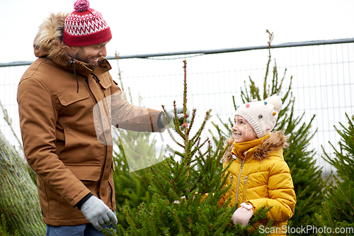
M 185 61 L 183 68 L 185 72 L 183 113 L 186 114 Z M 173 106 L 177 116 L 176 102 Z M 150 167 L 151 203 L 142 203 L 137 215 L 133 215 L 126 207 L 128 229 L 117 225 L 117 232 L 106 231 L 106 235 L 262 235 L 258 230 L 253 232 L 249 230 L 253 224 L 266 217 L 268 209 L 258 210 L 249 225 L 242 228 L 240 225 L 232 224 L 231 217 L 236 206 L 228 208 L 227 203 L 222 206 L 218 204 L 221 196 L 229 188 L 222 189 L 227 176 L 224 177 L 224 170 L 219 171 L 224 149 L 219 145 L 213 150 L 210 140 L 201 138 L 210 112 L 206 112 L 200 128 L 194 134 L 192 128 L 196 109 L 193 109 L 190 124 L 185 122 L 185 118 L 181 127 L 176 121 L 173 129 L 167 129 L 178 148 L 168 146 L 172 154 L 159 165 Z

